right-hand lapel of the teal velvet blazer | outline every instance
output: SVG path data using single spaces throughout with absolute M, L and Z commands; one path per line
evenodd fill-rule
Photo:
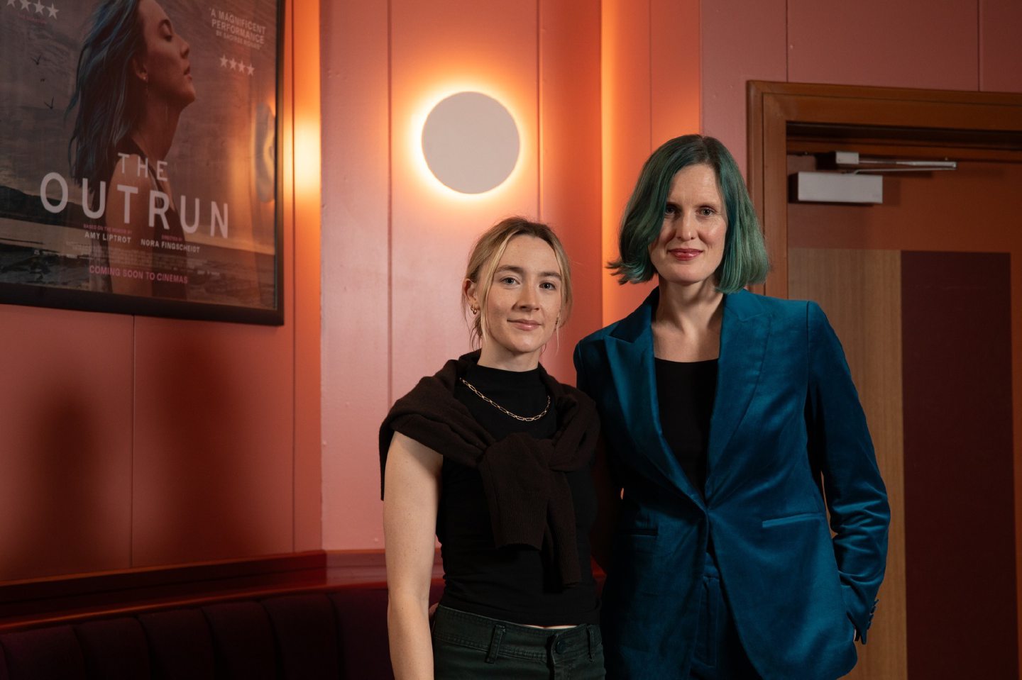
M 739 291 L 725 297 L 717 360 L 716 395 L 710 419 L 706 496 L 730 466 L 725 449 L 742 422 L 759 383 L 771 317 L 755 295 Z

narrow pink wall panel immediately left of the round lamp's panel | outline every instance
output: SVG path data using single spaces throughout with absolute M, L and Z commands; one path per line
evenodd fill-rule
M 389 391 L 387 12 L 324 2 L 323 545 L 383 546 Z M 454 293 L 448 291 L 449 297 Z

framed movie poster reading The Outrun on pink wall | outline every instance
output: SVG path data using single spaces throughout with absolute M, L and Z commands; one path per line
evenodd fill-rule
M 0 302 L 281 323 L 277 0 L 0 0 Z

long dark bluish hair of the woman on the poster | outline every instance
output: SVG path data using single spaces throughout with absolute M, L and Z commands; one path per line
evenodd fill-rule
M 106 0 L 92 14 L 82 43 L 75 93 L 67 113 L 78 106 L 67 142 L 72 176 L 89 181 L 95 200 L 100 182 L 108 182 L 117 148 L 141 114 L 142 87 L 133 77 L 133 58 L 144 48 L 138 20 L 139 0 Z

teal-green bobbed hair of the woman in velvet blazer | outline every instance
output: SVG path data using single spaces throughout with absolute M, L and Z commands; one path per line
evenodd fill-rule
M 620 255 L 607 262 L 620 284 L 649 281 L 656 274 L 649 246 L 660 234 L 670 182 L 689 165 L 709 165 L 724 198 L 728 220 L 724 258 L 716 271 L 716 288 L 734 293 L 766 278 L 770 263 L 759 221 L 738 163 L 712 137 L 685 135 L 665 142 L 646 160 L 621 218 Z

